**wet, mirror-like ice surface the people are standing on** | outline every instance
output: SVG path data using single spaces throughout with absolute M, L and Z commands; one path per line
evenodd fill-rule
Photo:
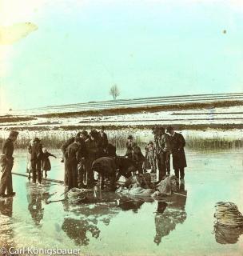
M 45 182 L 40 188 L 14 175 L 17 196 L 0 202 L 0 246 L 81 248 L 91 255 L 241 255 L 241 234 L 233 244 L 216 241 L 213 213 L 219 201 L 235 202 L 243 212 L 242 152 L 188 152 L 187 158 L 187 198 L 166 203 L 114 193 L 95 199 L 91 192 L 91 204 L 46 204 L 62 198 L 63 186 Z M 62 179 L 62 164 L 52 163 L 50 178 Z M 25 170 L 25 154 L 17 153 L 14 171 Z

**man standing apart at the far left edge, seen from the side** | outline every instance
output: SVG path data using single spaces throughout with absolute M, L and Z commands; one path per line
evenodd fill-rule
M 14 166 L 14 142 L 18 137 L 18 131 L 11 131 L 9 138 L 2 143 L 2 155 L 1 155 L 1 166 L 2 166 L 2 177 L 0 180 L 0 197 L 6 198 L 7 196 L 14 196 L 13 182 L 12 182 L 12 169 Z M 5 194 L 6 191 L 6 194 Z

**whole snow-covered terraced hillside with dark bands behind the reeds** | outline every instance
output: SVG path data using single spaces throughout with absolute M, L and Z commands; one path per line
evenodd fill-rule
M 237 105 L 230 106 L 230 100 L 237 100 Z M 228 102 L 227 107 L 222 106 L 201 106 L 195 105 L 190 108 L 180 108 L 180 102 L 194 101 L 197 103 L 205 102 Z M 169 105 L 176 102 L 174 105 Z M 240 102 L 240 103 L 239 103 Z M 241 104 L 242 102 L 242 104 Z M 141 104 L 147 106 L 160 106 L 167 104 L 166 110 L 161 109 L 142 109 Z M 137 105 L 136 105 L 137 104 Z M 118 108 L 117 112 L 109 111 L 114 107 L 121 106 L 140 106 L 139 109 L 129 111 L 129 109 Z M 171 108 L 169 108 L 171 106 Z M 92 107 L 92 108 L 91 108 Z M 84 108 L 94 111 L 93 113 L 82 111 Z M 108 111 L 102 111 L 101 108 Z M 78 112 L 74 114 L 66 114 Z M 46 117 L 42 114 L 52 113 Z M 73 136 L 77 130 L 99 128 L 106 126 L 111 138 L 124 138 L 127 134 L 134 134 L 141 141 L 153 139 L 151 127 L 173 125 L 180 129 L 185 138 L 197 139 L 225 139 L 241 140 L 243 131 L 243 94 L 218 94 L 218 95 L 194 95 L 167 98 L 133 99 L 118 102 L 92 102 L 73 104 L 68 106 L 52 106 L 26 111 L 11 111 L 11 122 L 8 117 L 0 123 L 0 136 L 6 138 L 10 129 L 21 130 L 20 138 L 46 137 L 58 138 L 63 140 Z M 58 115 L 57 115 L 58 114 Z M 20 117 L 30 117 L 33 120 L 20 121 Z M 15 119 L 14 119 L 15 118 Z M 3 120 L 3 119 L 2 119 Z M 24 120 L 24 119 L 22 119 Z M 1 121 L 0 121 L 1 122 Z M 212 129 L 213 128 L 213 129 Z

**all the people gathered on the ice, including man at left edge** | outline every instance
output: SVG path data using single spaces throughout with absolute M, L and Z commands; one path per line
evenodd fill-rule
M 185 139 L 182 134 L 175 132 L 172 126 L 165 128 L 153 127 L 154 140 L 145 146 L 145 156 L 141 148 L 129 135 L 126 142 L 126 152 L 123 157 L 118 157 L 116 147 L 108 142 L 105 127 L 101 130 L 86 130 L 78 132 L 74 138 L 68 139 L 62 144 L 63 162 L 65 166 L 64 184 L 68 190 L 84 185 L 86 174 L 86 186 L 94 185 L 94 172 L 102 174 L 105 178 L 112 179 L 114 185 L 121 175 L 126 178 L 136 173 L 143 174 L 146 169 L 157 172 L 158 181 L 170 174 L 170 156 L 173 158 L 175 176 L 184 182 L 185 176 Z M 9 138 L 2 144 L 0 158 L 2 177 L 0 180 L 0 197 L 13 196 L 15 193 L 12 186 L 11 170 L 14 165 L 14 142 L 18 137 L 17 131 L 11 131 Z M 28 146 L 30 157 L 29 178 L 32 172 L 32 182 L 42 183 L 42 176 L 50 170 L 50 154 L 46 148 L 42 148 L 39 138 L 34 138 Z M 5 194 L 6 193 L 6 194 Z

